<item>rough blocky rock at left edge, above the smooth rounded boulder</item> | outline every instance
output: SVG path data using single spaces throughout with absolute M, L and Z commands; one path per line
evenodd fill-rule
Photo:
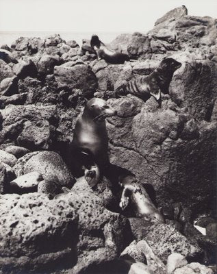
M 51 146 L 52 123 L 56 121 L 54 105 L 8 105 L 1 113 L 3 130 L 0 139 L 10 140 L 13 145 L 30 151 Z

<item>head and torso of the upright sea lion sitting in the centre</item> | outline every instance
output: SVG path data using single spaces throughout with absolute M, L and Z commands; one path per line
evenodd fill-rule
M 103 99 L 92 98 L 86 104 L 84 112 L 77 119 L 71 144 L 72 167 L 76 177 L 81 166 L 97 165 L 101 170 L 110 164 L 105 119 L 116 114 L 117 111 Z

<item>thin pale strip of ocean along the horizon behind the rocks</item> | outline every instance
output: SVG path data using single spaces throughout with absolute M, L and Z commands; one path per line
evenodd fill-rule
M 97 34 L 101 41 L 105 43 L 112 42 L 120 32 L 0 32 L 0 46 L 7 44 L 12 45 L 19 37 L 40 37 L 45 38 L 52 34 L 60 34 L 64 40 L 75 40 L 79 45 L 82 44 L 82 39 L 90 39 L 92 34 Z

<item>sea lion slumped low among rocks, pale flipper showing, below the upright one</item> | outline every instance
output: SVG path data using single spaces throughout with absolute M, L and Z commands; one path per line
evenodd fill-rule
M 140 186 L 135 176 L 120 176 L 119 184 L 123 187 L 120 199 L 122 210 L 125 210 L 130 203 L 137 217 L 153 223 L 164 223 L 164 217 L 155 208 L 146 190 Z

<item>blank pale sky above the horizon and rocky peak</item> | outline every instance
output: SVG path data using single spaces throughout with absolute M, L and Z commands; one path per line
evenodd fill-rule
M 0 0 L 0 32 L 146 32 L 181 5 L 217 18 L 217 0 Z

